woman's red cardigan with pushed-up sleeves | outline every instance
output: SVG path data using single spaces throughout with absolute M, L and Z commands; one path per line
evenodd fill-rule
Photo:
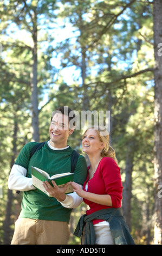
M 89 170 L 90 166 L 88 167 Z M 83 190 L 89 179 L 89 172 L 87 179 L 84 182 Z M 95 194 L 109 194 L 112 199 L 112 206 L 106 206 L 90 202 L 87 199 L 83 201 L 89 205 L 90 209 L 86 211 L 86 214 L 92 214 L 95 211 L 106 208 L 120 208 L 122 199 L 122 183 L 120 168 L 111 157 L 103 157 L 99 162 L 98 168 L 92 179 L 88 181 L 88 192 Z M 103 220 L 95 220 L 93 224 L 99 223 Z

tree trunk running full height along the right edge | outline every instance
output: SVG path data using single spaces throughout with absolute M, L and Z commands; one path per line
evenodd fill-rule
M 155 183 L 155 223 L 154 243 L 162 244 L 162 199 L 158 197 L 159 185 L 162 185 L 162 56 L 159 44 L 162 42 L 162 0 L 153 2 L 154 31 L 154 183 Z

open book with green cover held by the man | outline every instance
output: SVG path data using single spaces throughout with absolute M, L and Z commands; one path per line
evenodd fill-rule
M 50 177 L 49 174 L 44 170 L 31 166 L 31 178 L 33 186 L 35 186 L 36 188 L 38 188 L 38 190 L 41 190 L 50 197 L 49 193 L 42 185 L 43 181 L 47 180 L 50 185 L 53 186 L 51 180 L 54 180 L 57 186 L 63 187 L 67 182 L 74 181 L 74 173 L 61 173 L 55 174 Z M 69 184 L 65 193 L 73 193 L 73 186 Z

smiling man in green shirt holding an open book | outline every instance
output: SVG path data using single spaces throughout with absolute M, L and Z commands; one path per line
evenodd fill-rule
M 49 127 L 50 140 L 31 158 L 29 152 L 37 142 L 27 143 L 11 169 L 9 188 L 24 191 L 22 210 L 15 223 L 11 242 L 13 245 L 68 243 L 70 208 L 77 207 L 81 203 L 80 198 L 75 192 L 66 195 L 66 185 L 63 188 L 54 187 L 55 198 L 37 190 L 32 184 L 31 166 L 45 170 L 50 176 L 70 172 L 73 149 L 67 145 L 67 140 L 75 129 L 72 125 L 69 127 L 70 121 L 75 117 L 72 113 L 67 107 L 56 109 Z M 80 155 L 74 171 L 74 181 L 82 186 L 86 175 L 87 164 Z

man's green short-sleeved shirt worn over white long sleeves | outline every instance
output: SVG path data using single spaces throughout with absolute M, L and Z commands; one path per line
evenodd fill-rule
M 31 178 L 31 166 L 46 170 L 49 175 L 70 172 L 70 156 L 72 148 L 64 150 L 50 149 L 46 142 L 29 161 L 30 150 L 37 142 L 27 143 L 17 157 L 15 164 L 27 169 L 27 177 Z M 87 164 L 85 157 L 79 156 L 74 171 L 74 181 L 80 185 L 86 180 Z M 72 209 L 64 208 L 55 198 L 48 197 L 39 190 L 23 192 L 20 217 L 47 221 L 64 221 L 69 223 Z

